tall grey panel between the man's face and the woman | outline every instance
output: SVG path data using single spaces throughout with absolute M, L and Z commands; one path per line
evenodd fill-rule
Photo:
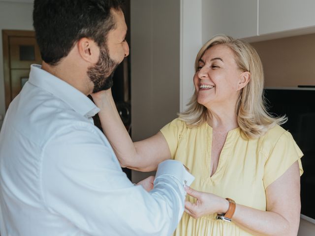
M 179 112 L 179 0 L 131 0 L 131 130 L 148 138 Z M 138 182 L 148 173 L 132 173 Z

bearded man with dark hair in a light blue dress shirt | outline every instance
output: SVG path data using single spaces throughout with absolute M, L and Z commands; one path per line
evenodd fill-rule
M 129 53 L 121 3 L 35 0 L 33 22 L 43 63 L 31 66 L 0 133 L 1 236 L 171 235 L 191 176 L 169 160 L 150 192 L 134 186 L 87 97 L 112 86 Z M 142 184 L 150 190 L 152 179 Z

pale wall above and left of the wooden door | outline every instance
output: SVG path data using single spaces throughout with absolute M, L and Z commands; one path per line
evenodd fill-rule
M 5 114 L 2 29 L 33 30 L 32 9 L 32 3 L 0 1 L 0 115 Z

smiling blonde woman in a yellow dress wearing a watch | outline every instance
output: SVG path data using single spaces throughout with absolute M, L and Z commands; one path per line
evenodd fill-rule
M 172 158 L 190 169 L 195 180 L 175 236 L 296 236 L 303 154 L 279 126 L 285 118 L 265 110 L 256 51 L 239 39 L 212 38 L 197 55 L 193 83 L 189 109 L 135 143 L 110 91 L 94 95 L 122 166 L 151 171 Z

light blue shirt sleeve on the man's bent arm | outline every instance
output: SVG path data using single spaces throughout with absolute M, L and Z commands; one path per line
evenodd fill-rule
M 47 209 L 91 236 L 171 235 L 184 211 L 183 178 L 161 175 L 150 192 L 134 186 L 101 136 L 94 127 L 73 125 L 46 145 Z

